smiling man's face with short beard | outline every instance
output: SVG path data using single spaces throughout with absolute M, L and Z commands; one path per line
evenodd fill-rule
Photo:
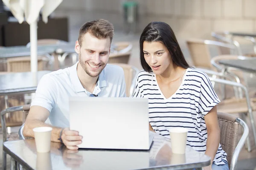
M 90 77 L 97 77 L 108 63 L 110 38 L 98 39 L 87 32 L 81 40 L 81 46 L 76 41 L 79 64 Z

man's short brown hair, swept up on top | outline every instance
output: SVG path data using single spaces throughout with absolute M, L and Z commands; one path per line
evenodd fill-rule
M 82 38 L 87 32 L 98 39 L 110 38 L 110 42 L 112 42 L 114 27 L 108 20 L 103 19 L 84 23 L 79 30 L 78 42 L 80 46 L 82 45 Z

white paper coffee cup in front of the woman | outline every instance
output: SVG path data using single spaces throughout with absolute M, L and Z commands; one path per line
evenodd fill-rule
M 169 133 L 171 137 L 172 153 L 184 154 L 188 129 L 184 127 L 170 128 Z

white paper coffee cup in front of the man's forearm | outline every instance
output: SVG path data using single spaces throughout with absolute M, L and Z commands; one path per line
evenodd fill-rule
M 51 150 L 52 127 L 36 127 L 33 131 L 37 152 L 49 152 Z

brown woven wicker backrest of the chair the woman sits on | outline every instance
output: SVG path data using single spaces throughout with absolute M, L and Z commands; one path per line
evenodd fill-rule
M 227 113 L 218 113 L 218 124 L 221 130 L 221 147 L 227 153 L 227 162 L 233 157 L 233 152 L 237 145 L 239 124 L 236 116 Z

